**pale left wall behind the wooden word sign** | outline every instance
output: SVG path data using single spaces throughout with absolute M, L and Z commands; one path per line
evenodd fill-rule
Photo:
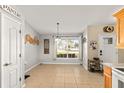
M 27 22 L 25 22 L 24 34 L 25 35 L 30 34 L 32 37 L 36 36 L 40 39 L 40 34 L 36 30 L 34 30 Z M 32 67 L 40 63 L 40 45 L 32 45 L 32 44 L 26 43 L 24 45 L 24 55 L 25 55 L 24 56 L 25 71 L 27 72 Z

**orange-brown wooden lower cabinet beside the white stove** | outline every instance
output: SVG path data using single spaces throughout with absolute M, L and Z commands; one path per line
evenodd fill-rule
M 112 69 L 104 66 L 104 87 L 112 88 Z

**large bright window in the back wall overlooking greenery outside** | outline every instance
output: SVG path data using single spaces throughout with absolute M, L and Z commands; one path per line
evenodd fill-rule
M 79 39 L 57 39 L 56 54 L 57 58 L 79 58 Z

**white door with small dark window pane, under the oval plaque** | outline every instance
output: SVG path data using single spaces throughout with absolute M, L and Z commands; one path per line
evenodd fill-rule
M 115 36 L 99 37 L 99 56 L 104 63 L 113 63 L 117 61 L 117 49 L 115 45 Z

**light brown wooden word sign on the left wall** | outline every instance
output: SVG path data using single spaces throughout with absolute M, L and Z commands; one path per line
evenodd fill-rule
M 35 36 L 34 38 L 29 35 L 29 34 L 26 34 L 25 35 L 25 44 L 32 44 L 32 45 L 39 45 L 40 41 L 38 40 L 38 38 Z

